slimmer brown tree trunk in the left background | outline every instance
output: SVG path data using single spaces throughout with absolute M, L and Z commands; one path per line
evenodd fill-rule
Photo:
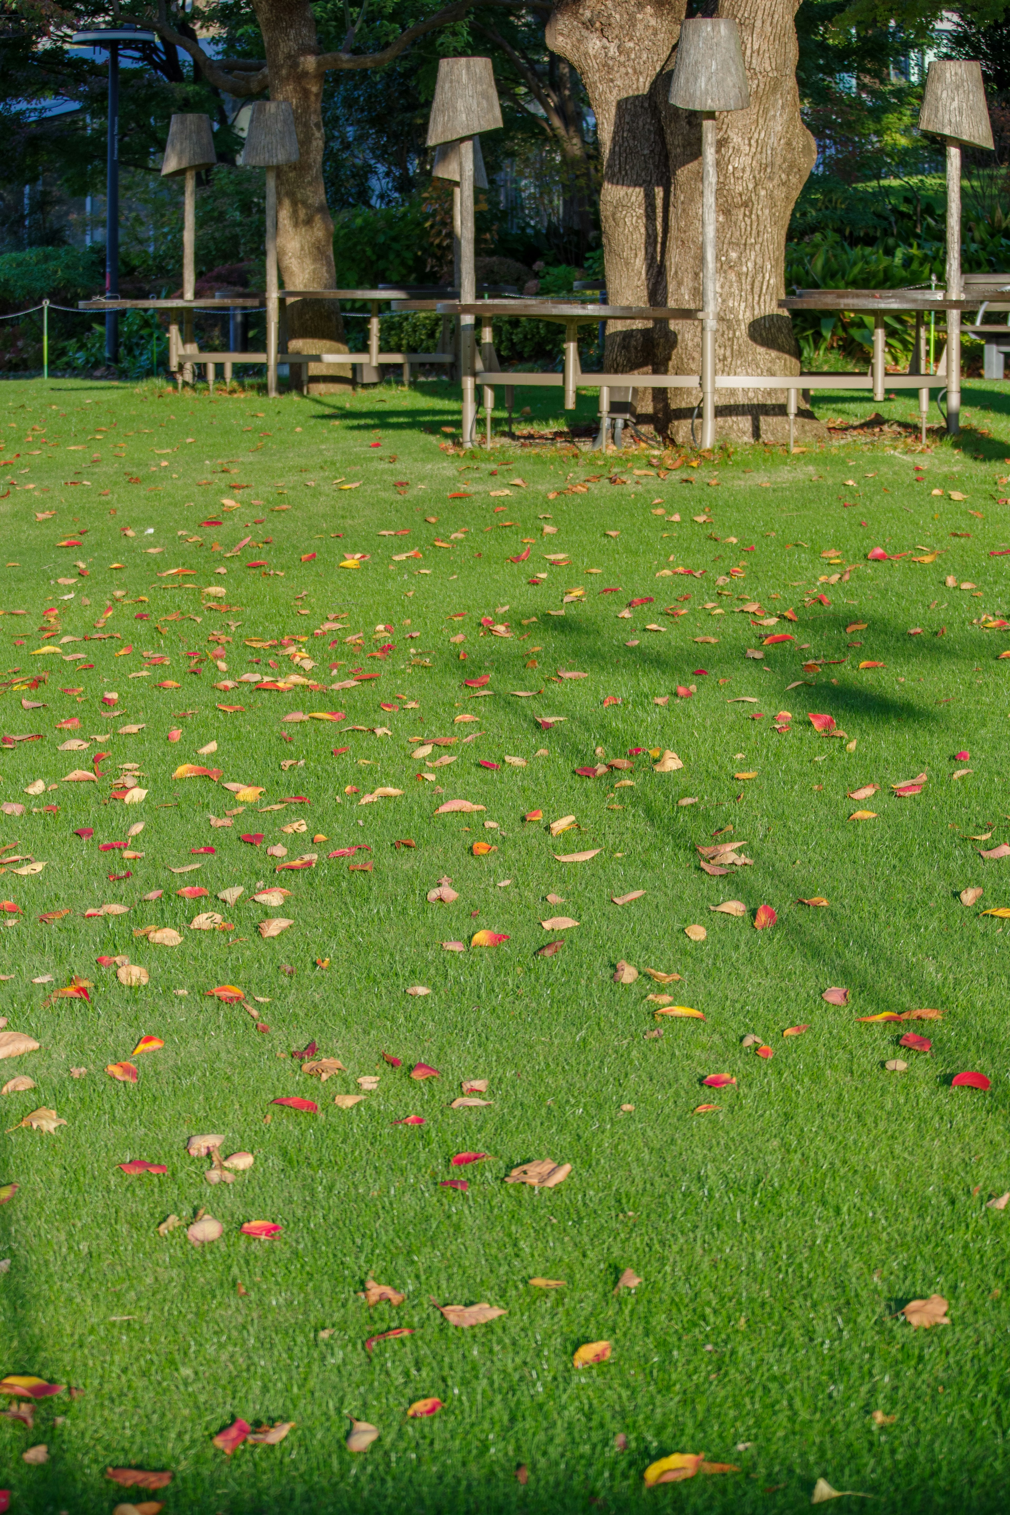
M 277 264 L 285 289 L 335 289 L 333 220 L 323 183 L 323 73 L 306 68 L 318 41 L 307 0 L 254 0 L 270 68 L 271 100 L 288 100 L 295 115 L 300 159 L 277 171 Z M 288 306 L 292 353 L 345 353 L 344 323 L 335 300 Z M 350 385 L 350 365 L 312 364 L 309 389 L 321 394 Z

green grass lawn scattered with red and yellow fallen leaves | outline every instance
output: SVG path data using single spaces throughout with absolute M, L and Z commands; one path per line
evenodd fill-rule
M 978 856 L 1010 839 L 1010 629 L 980 624 L 1010 612 L 1010 558 L 990 556 L 1010 547 L 1004 394 L 966 385 L 965 432 L 925 453 L 913 433 L 834 432 L 792 458 L 603 462 L 447 450 L 459 411 L 435 383 L 276 401 L 3 386 L 0 730 L 41 741 L 0 748 L 0 801 L 24 806 L 0 835 L 21 859 L 0 868 L 20 909 L 3 917 L 0 1009 L 41 1047 L 3 1064 L 35 1088 L 0 1101 L 0 1183 L 18 1185 L 0 1207 L 0 1371 L 67 1386 L 32 1429 L 0 1427 L 12 1510 L 736 1515 L 806 1507 L 818 1477 L 895 1515 L 1005 1509 L 1010 1210 L 987 1201 L 1010 1188 L 1010 930 L 981 912 L 1010 906 L 1010 861 Z M 560 423 L 559 398 L 538 391 L 533 418 Z M 913 420 L 915 397 L 877 409 Z M 871 562 L 874 547 L 901 556 Z M 341 568 L 353 553 L 360 567 Z M 704 576 L 660 577 L 674 567 Z M 628 601 L 645 603 L 622 617 Z M 762 614 L 736 614 L 753 601 Z M 762 647 L 780 633 L 795 641 Z M 288 647 L 313 667 L 248 645 L 283 638 L 304 638 Z M 239 682 L 294 671 L 307 683 Z M 379 677 L 330 692 L 356 671 Z M 463 683 L 483 676 L 489 694 Z M 454 741 L 419 759 L 410 738 Z M 683 768 L 656 773 L 650 751 L 668 748 Z M 630 751 L 631 770 L 575 773 Z M 97 753 L 98 782 L 64 782 Z M 432 768 L 439 756 L 454 761 Z M 126 806 L 111 795 L 130 764 L 147 794 Z M 221 776 L 176 780 L 182 764 Z M 921 773 L 918 795 L 892 794 Z M 848 792 L 869 783 L 877 817 L 849 821 Z M 366 804 L 379 788 L 401 792 Z M 435 814 L 453 798 L 483 809 Z M 551 838 L 566 815 L 578 829 Z M 701 871 L 713 838 L 753 865 Z M 479 841 L 497 850 L 474 856 Z M 350 847 L 369 850 L 329 856 Z M 556 861 L 583 850 L 597 854 Z M 315 867 L 276 871 L 304 853 Z M 30 861 L 44 870 L 17 871 Z M 444 876 L 457 900 L 427 903 Z M 207 895 L 179 895 L 192 885 Z M 221 903 L 230 886 L 244 894 Z M 291 891 L 282 906 L 253 901 L 273 886 Z M 969 886 L 984 895 L 965 907 Z M 796 903 L 816 895 L 828 906 Z M 710 909 L 727 900 L 745 917 Z M 109 903 L 129 914 L 85 915 Z M 778 917 L 765 930 L 760 904 Z M 230 930 L 191 929 L 212 909 Z M 545 930 L 554 915 L 578 926 Z M 276 917 L 294 924 L 260 938 Z M 507 939 L 471 947 L 482 929 Z M 100 967 L 117 954 L 150 983 Z M 615 982 L 619 961 L 636 982 Z M 74 974 L 89 1001 L 50 1000 Z M 245 1004 L 206 997 L 226 983 Z M 825 1003 L 828 986 L 849 1003 Z M 657 1017 L 656 995 L 706 1020 Z M 859 1020 L 919 1007 L 942 1020 Z M 909 1030 L 931 1051 L 902 1050 Z M 144 1035 L 164 1048 L 132 1057 Z M 309 1042 L 345 1071 L 307 1076 L 291 1054 Z M 907 1071 L 886 1071 L 898 1056 Z M 136 1083 L 106 1074 L 120 1060 Z M 418 1062 L 439 1076 L 413 1080 Z M 992 1088 L 951 1088 L 965 1070 Z M 706 1088 L 715 1073 L 736 1085 Z M 366 1076 L 373 1092 L 335 1104 Z M 465 1080 L 488 1080 L 491 1103 L 450 1109 Z M 318 1114 L 271 1103 L 291 1095 Z M 718 1109 L 692 1114 L 703 1103 Z M 42 1106 L 67 1124 L 18 1126 Z M 424 1124 L 395 1124 L 409 1115 Z M 200 1133 L 254 1167 L 212 1188 L 209 1159 L 186 1153 Z M 453 1167 L 463 1151 L 488 1157 Z M 168 1171 L 130 1177 L 129 1159 Z M 504 1183 L 539 1159 L 569 1177 Z M 454 1177 L 468 1189 L 442 1186 Z M 224 1233 L 197 1248 L 200 1207 Z M 170 1215 L 183 1226 L 159 1235 Z M 283 1230 L 253 1239 L 253 1220 Z M 642 1282 L 615 1294 L 625 1268 Z M 368 1279 L 406 1301 L 368 1307 Z M 949 1326 L 899 1318 L 931 1294 Z M 507 1314 L 459 1329 L 433 1300 Z M 365 1348 L 395 1327 L 413 1335 Z M 575 1370 L 600 1341 L 610 1359 Z M 407 1418 L 426 1397 L 441 1412 Z M 382 1433 L 362 1454 L 345 1450 L 348 1415 Z M 212 1438 L 236 1418 L 295 1426 L 229 1457 Z M 48 1460 L 26 1465 L 39 1445 Z M 671 1453 L 739 1471 L 645 1489 Z M 145 1494 L 108 1467 L 174 1477 Z

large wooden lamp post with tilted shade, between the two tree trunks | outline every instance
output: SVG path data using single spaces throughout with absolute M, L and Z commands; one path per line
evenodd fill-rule
M 489 58 L 442 58 L 439 61 L 429 147 L 459 145 L 459 300 L 477 298 L 474 267 L 474 138 L 503 126 L 495 76 Z M 477 380 L 474 362 L 474 317 L 459 318 L 460 367 L 463 370 L 463 447 L 474 445 Z

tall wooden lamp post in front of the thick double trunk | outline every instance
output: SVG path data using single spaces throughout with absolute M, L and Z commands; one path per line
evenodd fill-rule
M 681 21 L 669 103 L 701 112 L 701 445 L 715 447 L 715 336 L 719 317 L 716 271 L 718 185 L 715 114 L 751 103 L 740 33 L 730 18 Z

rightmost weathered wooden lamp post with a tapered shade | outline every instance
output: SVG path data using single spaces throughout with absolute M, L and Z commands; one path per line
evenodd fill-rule
M 962 142 L 992 150 L 981 64 L 937 59 L 930 64 L 919 112 L 919 130 L 946 142 L 946 298 L 962 300 Z M 962 312 L 946 312 L 946 430 L 962 424 Z

